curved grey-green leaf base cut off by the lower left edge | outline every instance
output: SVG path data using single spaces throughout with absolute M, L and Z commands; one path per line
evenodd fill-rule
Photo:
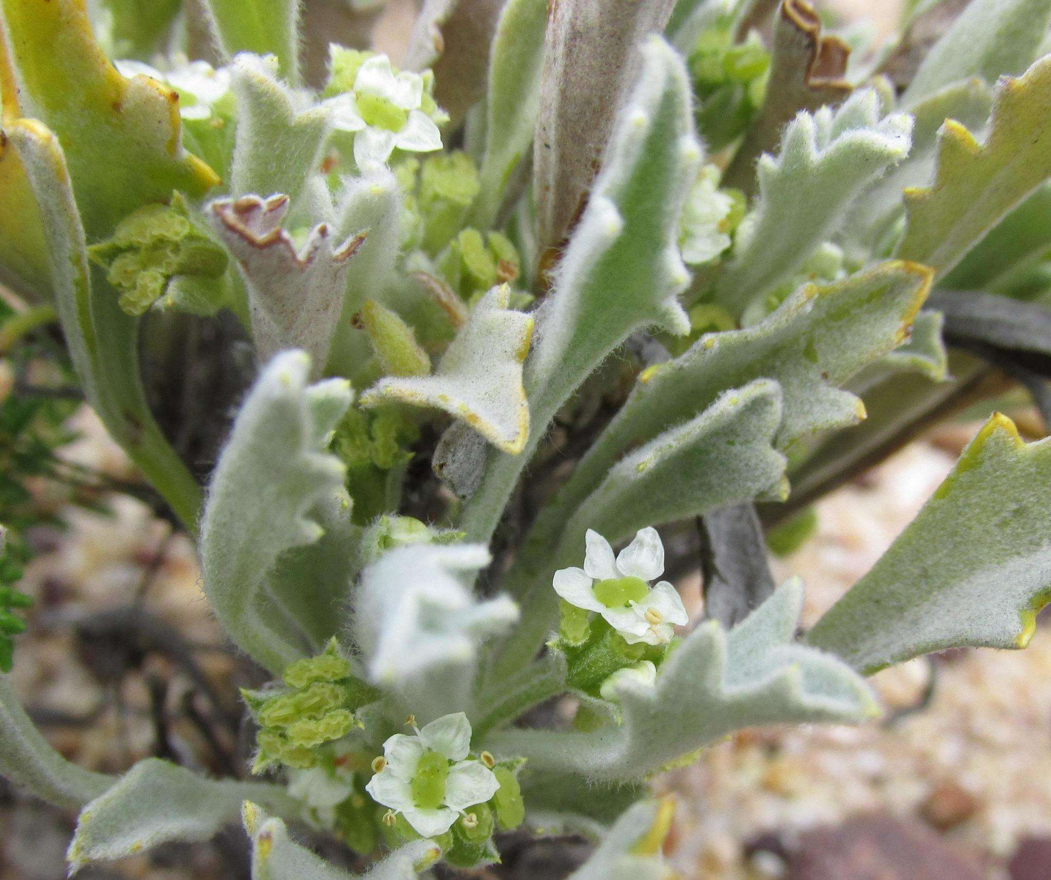
M 83 806 L 117 778 L 67 761 L 25 714 L 6 675 L 0 676 L 0 774 L 57 806 Z

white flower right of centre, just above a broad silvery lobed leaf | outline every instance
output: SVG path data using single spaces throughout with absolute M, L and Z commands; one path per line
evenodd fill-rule
M 614 560 L 613 548 L 597 531 L 588 529 L 584 567 L 555 572 L 554 586 L 562 599 L 597 611 L 628 645 L 665 645 L 689 617 L 667 581 L 651 589 L 650 581 L 664 573 L 664 546 L 657 529 L 640 529 Z

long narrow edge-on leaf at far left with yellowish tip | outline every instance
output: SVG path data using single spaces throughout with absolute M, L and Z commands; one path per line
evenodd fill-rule
M 21 160 L 41 213 L 50 289 L 87 400 L 110 436 L 192 531 L 201 487 L 150 413 L 139 373 L 139 321 L 121 311 L 102 272 L 91 276 L 62 147 L 36 120 L 9 124 L 4 135 Z

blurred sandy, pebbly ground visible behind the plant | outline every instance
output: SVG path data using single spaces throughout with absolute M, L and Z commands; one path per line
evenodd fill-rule
M 891 0 L 819 5 L 880 32 L 899 16 Z M 391 0 L 384 13 L 379 48 L 393 59 L 414 8 Z M 236 688 L 257 680 L 210 619 L 191 545 L 154 512 L 57 372 L 56 340 L 4 344 L 0 516 L 26 526 L 20 588 L 35 605 L 12 677 L 29 714 L 84 767 L 120 771 L 152 754 L 243 774 Z M 1027 439 L 1045 435 L 1024 395 L 1008 392 L 998 405 Z M 779 577 L 804 579 L 804 626 L 905 527 L 987 413 L 940 426 L 818 503 L 809 539 L 774 560 Z M 698 577 L 678 586 L 698 612 Z M 886 708 L 879 720 L 741 732 L 658 782 L 677 795 L 668 846 L 683 877 L 1051 878 L 1051 627 L 1027 651 L 946 652 L 872 680 Z M 64 876 L 74 820 L 0 782 L 0 880 Z M 555 877 L 582 845 L 523 844 L 478 876 Z M 80 876 L 240 880 L 245 855 L 233 830 Z

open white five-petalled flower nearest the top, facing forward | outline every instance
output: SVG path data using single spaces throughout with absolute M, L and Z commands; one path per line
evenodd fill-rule
M 394 72 L 386 55 L 365 61 L 351 91 L 322 102 L 332 127 L 354 132 L 354 161 L 363 171 L 383 165 L 397 147 L 413 152 L 441 149 L 441 133 L 423 109 L 424 78 Z

